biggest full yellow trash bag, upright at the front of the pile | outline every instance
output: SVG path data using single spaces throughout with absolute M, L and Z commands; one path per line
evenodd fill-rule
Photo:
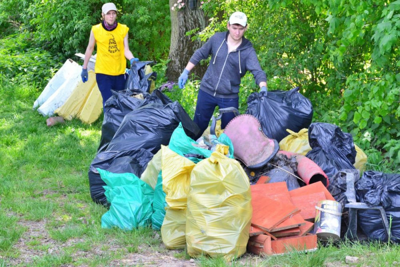
M 235 159 L 213 152 L 194 166 L 186 214 L 190 256 L 222 255 L 228 261 L 241 256 L 251 215 L 249 180 Z

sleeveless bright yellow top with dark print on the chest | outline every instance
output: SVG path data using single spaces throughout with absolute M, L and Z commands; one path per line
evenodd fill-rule
M 91 27 L 97 45 L 95 73 L 120 75 L 125 73 L 126 60 L 123 38 L 129 28 L 118 23 L 113 30 L 105 30 L 100 24 Z

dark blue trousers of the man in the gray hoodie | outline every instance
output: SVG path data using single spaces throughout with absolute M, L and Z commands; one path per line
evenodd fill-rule
M 211 94 L 198 90 L 196 110 L 194 111 L 193 121 L 200 128 L 200 136 L 203 131 L 208 127 L 215 107 L 239 107 L 239 97 L 235 98 L 221 98 L 215 97 Z M 233 112 L 223 113 L 221 117 L 221 128 L 225 128 L 226 124 L 234 117 Z M 198 137 L 200 137 L 198 136 Z

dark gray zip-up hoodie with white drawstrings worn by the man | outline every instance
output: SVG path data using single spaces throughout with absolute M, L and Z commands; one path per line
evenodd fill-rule
M 228 31 L 212 35 L 190 58 L 197 64 L 211 54 L 211 61 L 201 79 L 200 89 L 217 97 L 238 97 L 240 78 L 250 71 L 258 85 L 266 82 L 266 74 L 259 65 L 255 50 L 249 40 L 242 37 L 241 44 L 228 53 Z

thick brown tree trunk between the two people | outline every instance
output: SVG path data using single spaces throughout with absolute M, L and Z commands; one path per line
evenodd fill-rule
M 191 55 L 198 49 L 202 42 L 191 40 L 191 36 L 186 36 L 186 32 L 195 28 L 202 30 L 207 26 L 204 13 L 198 8 L 200 1 L 197 0 L 197 8 L 189 9 L 189 1 L 184 0 L 184 8 L 171 10 L 170 7 L 176 0 L 169 0 L 169 10 L 171 14 L 171 42 L 169 46 L 168 68 L 166 76 L 168 80 L 177 81 L 183 68 L 186 66 Z M 197 64 L 191 73 L 201 78 L 206 70 L 206 66 Z

